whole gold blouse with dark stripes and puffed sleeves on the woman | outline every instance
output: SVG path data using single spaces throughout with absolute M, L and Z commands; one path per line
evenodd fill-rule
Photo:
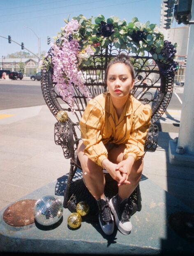
M 124 156 L 135 160 L 144 154 L 144 143 L 150 126 L 151 107 L 129 95 L 120 118 L 109 92 L 90 100 L 80 121 L 84 153 L 102 166 L 108 158 L 106 143 L 125 144 Z

